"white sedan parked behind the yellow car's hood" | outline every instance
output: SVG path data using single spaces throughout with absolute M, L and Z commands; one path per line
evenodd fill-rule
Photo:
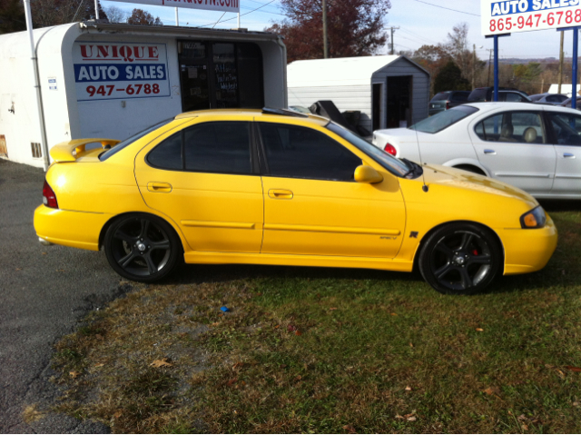
M 537 198 L 581 199 L 581 114 L 564 107 L 471 103 L 409 128 L 377 130 L 399 158 L 487 175 Z

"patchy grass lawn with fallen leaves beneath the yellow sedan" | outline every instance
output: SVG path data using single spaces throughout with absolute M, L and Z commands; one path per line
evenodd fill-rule
M 478 296 L 291 267 L 133 285 L 56 345 L 58 410 L 114 432 L 580 432 L 581 205 L 545 205 L 547 268 Z

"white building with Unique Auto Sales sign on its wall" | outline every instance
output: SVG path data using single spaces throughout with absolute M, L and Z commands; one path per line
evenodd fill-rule
M 124 139 L 182 112 L 287 106 L 281 36 L 94 22 L 34 30 L 46 143 Z M 26 32 L 0 35 L 0 154 L 42 167 Z

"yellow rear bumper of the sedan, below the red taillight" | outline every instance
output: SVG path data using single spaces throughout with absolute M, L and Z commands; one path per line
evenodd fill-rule
M 71 212 L 40 205 L 34 210 L 34 230 L 44 242 L 99 251 L 99 235 L 110 218 L 103 213 Z

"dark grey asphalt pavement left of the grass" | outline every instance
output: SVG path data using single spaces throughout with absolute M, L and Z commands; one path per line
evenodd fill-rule
M 34 232 L 44 172 L 0 159 L 0 432 L 101 433 L 106 426 L 47 412 L 26 423 L 27 407 L 49 410 L 54 343 L 87 311 L 123 292 L 103 252 L 43 246 Z

